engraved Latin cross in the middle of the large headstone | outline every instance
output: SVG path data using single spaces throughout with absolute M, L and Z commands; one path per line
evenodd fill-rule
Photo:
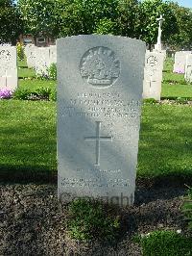
M 95 154 L 96 162 L 95 166 L 100 166 L 100 142 L 101 141 L 112 141 L 112 137 L 102 137 L 100 136 L 101 131 L 101 121 L 96 121 L 96 136 L 94 137 L 84 137 L 84 141 L 96 141 Z

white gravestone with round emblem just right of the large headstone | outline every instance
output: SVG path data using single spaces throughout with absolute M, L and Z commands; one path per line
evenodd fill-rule
M 143 82 L 143 98 L 160 100 L 164 56 L 157 52 L 146 52 Z

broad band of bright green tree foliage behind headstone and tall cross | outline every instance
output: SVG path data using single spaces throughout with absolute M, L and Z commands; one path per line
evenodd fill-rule
M 113 34 L 141 38 L 151 45 L 157 38 L 156 18 L 162 14 L 163 42 L 191 41 L 191 12 L 163 0 L 18 0 L 18 7 L 25 33 L 35 37 Z

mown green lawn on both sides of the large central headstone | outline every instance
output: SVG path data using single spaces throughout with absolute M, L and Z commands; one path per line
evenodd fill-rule
M 1 175 L 57 174 L 56 103 L 2 100 L 0 115 Z M 186 105 L 143 107 L 138 177 L 192 176 L 191 116 Z

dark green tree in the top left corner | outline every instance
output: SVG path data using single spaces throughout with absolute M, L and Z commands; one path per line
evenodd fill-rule
M 16 43 L 23 31 L 23 23 L 12 0 L 0 0 L 0 42 Z

